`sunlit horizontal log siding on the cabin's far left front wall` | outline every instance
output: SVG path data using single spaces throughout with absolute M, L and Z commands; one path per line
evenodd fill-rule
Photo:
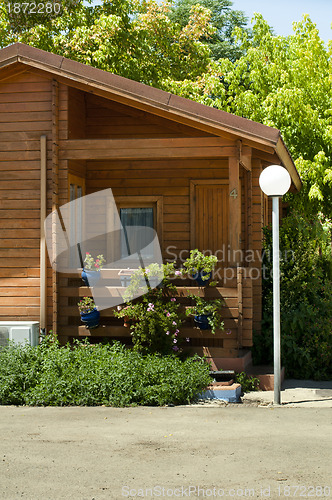
M 40 136 L 47 136 L 50 190 L 51 117 L 51 80 L 25 72 L 0 82 L 2 321 L 39 321 Z M 47 279 L 51 306 L 50 270 Z

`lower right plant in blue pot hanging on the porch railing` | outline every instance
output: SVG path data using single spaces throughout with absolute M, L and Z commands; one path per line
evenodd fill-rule
M 224 329 L 221 319 L 220 308 L 223 305 L 220 299 L 205 300 L 197 295 L 189 295 L 194 301 L 193 306 L 186 308 L 187 316 L 194 316 L 194 322 L 201 330 L 212 330 L 214 334 L 217 329 Z

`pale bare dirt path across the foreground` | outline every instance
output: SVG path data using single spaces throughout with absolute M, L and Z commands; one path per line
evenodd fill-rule
M 0 407 L 0 499 L 332 498 L 331 420 L 330 408 Z

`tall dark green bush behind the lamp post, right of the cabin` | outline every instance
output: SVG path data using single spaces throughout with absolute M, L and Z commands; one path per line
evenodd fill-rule
M 319 220 L 316 221 L 319 224 Z M 318 228 L 319 229 L 319 228 Z M 280 230 L 281 360 L 287 377 L 332 378 L 332 282 L 327 272 L 331 247 L 299 214 Z M 329 252 L 329 253 L 328 253 Z M 255 364 L 273 359 L 271 231 L 265 230 L 262 334 L 254 336 Z

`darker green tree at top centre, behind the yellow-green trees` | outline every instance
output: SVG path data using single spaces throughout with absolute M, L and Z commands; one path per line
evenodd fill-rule
M 236 43 L 233 31 L 235 27 L 242 28 L 248 34 L 248 18 L 244 12 L 233 10 L 231 0 L 176 0 L 169 17 L 181 26 L 188 23 L 191 9 L 197 4 L 211 11 L 211 23 L 215 33 L 205 38 L 205 42 L 211 50 L 211 57 L 215 60 L 227 58 L 235 61 L 243 50 Z

